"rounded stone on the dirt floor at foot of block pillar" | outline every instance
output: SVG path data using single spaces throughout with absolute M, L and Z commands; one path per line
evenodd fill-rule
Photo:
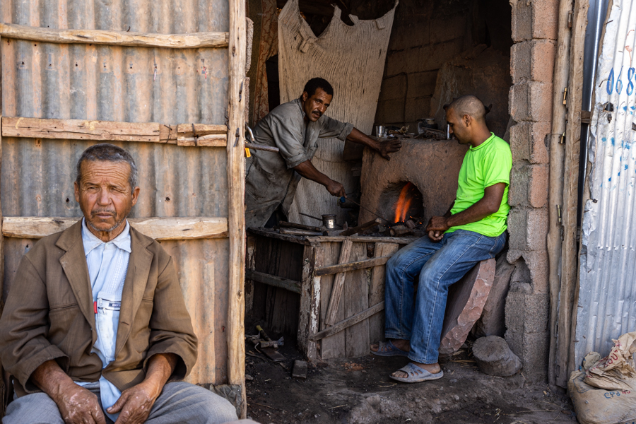
M 521 360 L 512 353 L 508 343 L 499 336 L 478 338 L 473 343 L 473 355 L 484 374 L 508 377 L 522 369 Z

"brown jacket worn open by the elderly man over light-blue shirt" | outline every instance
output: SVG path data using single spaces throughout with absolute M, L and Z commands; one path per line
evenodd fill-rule
M 172 258 L 132 227 L 115 360 L 102 370 L 98 355 L 90 353 L 97 332 L 81 228 L 80 221 L 43 238 L 18 267 L 0 319 L 0 359 L 15 377 L 18 396 L 39 391 L 29 378 L 52 359 L 75 381 L 104 375 L 122 391 L 143 381 L 155 353 L 179 356 L 172 379 L 188 375 L 196 336 Z

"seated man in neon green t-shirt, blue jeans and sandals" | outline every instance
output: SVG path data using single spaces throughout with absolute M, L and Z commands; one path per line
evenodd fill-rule
M 450 133 L 470 145 L 459 171 L 457 197 L 446 215 L 430 218 L 428 237 L 387 262 L 384 336 L 389 341 L 371 345 L 371 352 L 411 360 L 391 374 L 400 382 L 444 375 L 437 357 L 448 288 L 479 261 L 495 257 L 506 242 L 512 155 L 508 143 L 488 130 L 485 114 L 483 103 L 473 95 L 447 107 Z

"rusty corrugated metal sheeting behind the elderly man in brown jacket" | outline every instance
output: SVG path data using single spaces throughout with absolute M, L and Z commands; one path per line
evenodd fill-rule
M 228 30 L 225 0 L 2 0 L 5 23 L 194 33 Z M 4 116 L 224 124 L 227 49 L 151 49 L 1 41 Z M 81 216 L 74 166 L 88 141 L 3 139 L 4 216 Z M 117 143 L 139 167 L 132 216 L 228 216 L 225 148 Z M 6 240 L 5 288 L 34 240 Z M 196 383 L 227 382 L 228 240 L 163 242 L 200 339 Z

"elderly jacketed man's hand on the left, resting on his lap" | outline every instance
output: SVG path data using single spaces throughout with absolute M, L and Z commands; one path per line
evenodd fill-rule
M 97 396 L 71 382 L 52 398 L 66 424 L 106 424 Z

